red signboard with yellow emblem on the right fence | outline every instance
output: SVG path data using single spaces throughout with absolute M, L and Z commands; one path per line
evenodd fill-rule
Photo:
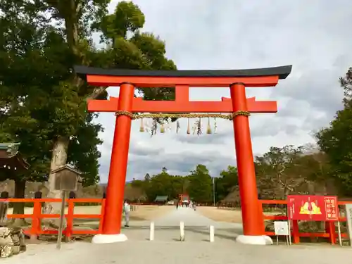
M 337 196 L 289 195 L 287 210 L 289 220 L 339 220 Z

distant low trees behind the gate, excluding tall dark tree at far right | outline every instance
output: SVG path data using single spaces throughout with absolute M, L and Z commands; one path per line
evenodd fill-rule
M 334 180 L 328 179 L 327 155 L 312 146 L 272 147 L 255 161 L 260 199 L 285 199 L 288 194 L 332 194 Z M 189 175 L 170 175 L 163 168 L 156 175 L 145 175 L 144 180 L 132 180 L 125 188 L 131 201 L 153 202 L 156 196 L 177 199 L 179 194 L 199 203 L 238 203 L 237 168 L 228 166 L 220 175 L 210 175 L 206 165 L 196 165 Z

